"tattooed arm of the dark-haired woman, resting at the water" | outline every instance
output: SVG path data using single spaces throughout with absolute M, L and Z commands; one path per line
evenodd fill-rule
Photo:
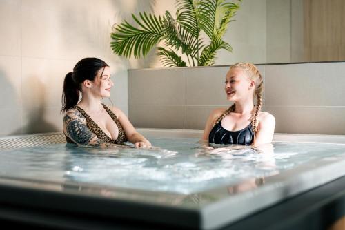
M 117 147 L 112 143 L 106 143 L 93 134 L 86 125 L 84 118 L 77 109 L 70 109 L 63 118 L 63 132 L 77 145 L 86 147 Z

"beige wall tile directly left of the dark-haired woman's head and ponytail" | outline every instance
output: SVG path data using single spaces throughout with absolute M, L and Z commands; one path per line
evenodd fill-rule
M 72 61 L 23 58 L 23 107 L 61 107 L 63 79 Z

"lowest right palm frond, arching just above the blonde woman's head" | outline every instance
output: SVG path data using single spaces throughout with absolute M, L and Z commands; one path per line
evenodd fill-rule
M 200 66 L 206 65 L 213 65 L 215 63 L 215 56 L 217 54 L 217 50 L 225 49 L 229 52 L 232 52 L 233 48 L 231 45 L 226 43 L 221 39 L 214 39 L 211 41 L 210 45 L 207 45 L 204 50 L 201 52 L 201 56 L 199 59 Z

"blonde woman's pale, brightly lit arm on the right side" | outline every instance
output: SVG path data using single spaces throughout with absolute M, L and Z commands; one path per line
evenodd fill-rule
M 259 118 L 259 126 L 255 134 L 253 145 L 271 143 L 275 133 L 275 117 L 268 112 L 263 112 Z

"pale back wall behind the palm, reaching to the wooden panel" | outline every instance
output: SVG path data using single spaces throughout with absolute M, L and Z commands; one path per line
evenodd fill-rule
M 163 15 L 166 10 L 175 16 L 175 0 L 157 1 L 152 6 L 156 15 Z M 235 21 L 229 23 L 224 34 L 233 52 L 219 50 L 215 65 L 239 61 L 290 63 L 309 60 L 304 55 L 304 0 L 242 1 L 233 19 Z M 130 67 L 164 66 L 152 50 L 145 59 L 131 59 Z

